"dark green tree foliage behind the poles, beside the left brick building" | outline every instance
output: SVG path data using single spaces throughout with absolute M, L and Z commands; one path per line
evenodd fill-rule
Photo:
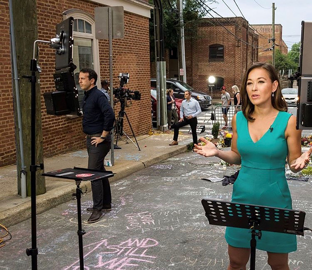
M 163 5 L 163 35 L 165 49 L 178 47 L 181 23 L 179 20 L 179 11 L 177 3 L 179 0 L 162 0 Z M 201 0 L 199 2 L 205 4 L 215 3 L 215 0 Z M 194 0 L 183 0 L 183 20 L 184 32 L 188 35 L 185 39 L 196 36 L 196 27 L 199 19 L 204 17 L 208 9 L 204 4 L 199 4 Z M 149 0 L 150 4 L 154 4 L 153 0 Z M 149 42 L 150 42 L 150 61 L 155 61 L 155 38 L 154 38 L 154 14 L 151 11 L 151 18 L 149 20 Z

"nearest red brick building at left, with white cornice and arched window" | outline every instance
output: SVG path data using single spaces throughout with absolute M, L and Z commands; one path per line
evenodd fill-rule
M 27 1 L 25 1 L 27 2 Z M 20 2 L 21 9 L 24 1 Z M 150 64 L 149 64 L 149 17 L 150 9 L 148 0 L 37 0 L 36 14 L 37 31 L 39 40 L 50 40 L 55 37 L 56 24 L 68 17 L 74 17 L 74 63 L 76 72 L 82 67 L 92 67 L 98 73 L 98 87 L 101 79 L 109 79 L 109 45 L 107 40 L 95 39 L 94 8 L 100 6 L 124 6 L 124 39 L 113 40 L 113 71 L 114 83 L 119 86 L 117 76 L 119 72 L 129 72 L 130 80 L 127 84 L 131 90 L 141 92 L 141 101 L 132 101 L 133 105 L 126 108 L 131 125 L 136 135 L 146 134 L 151 127 L 150 114 Z M 1 67 L 0 75 L 0 167 L 16 163 L 16 141 L 14 140 L 15 125 L 12 97 L 12 73 L 10 60 L 10 35 L 9 35 L 9 7 L 8 1 L 0 1 L 1 13 Z M 25 14 L 27 10 L 24 10 Z M 16 24 L 15 24 L 16 27 Z M 27 26 L 26 26 L 27 27 Z M 17 30 L 19 31 L 19 30 Z M 26 35 L 26 34 L 25 34 Z M 19 40 L 16 40 L 16 43 Z M 32 41 L 33 44 L 34 41 Z M 32 54 L 29 55 L 29 61 Z M 19 55 L 17 55 L 19 61 Z M 48 45 L 39 44 L 39 65 L 41 96 L 41 121 L 42 144 L 45 157 L 58 155 L 85 148 L 85 139 L 82 132 L 82 117 L 70 118 L 66 116 L 47 115 L 43 100 L 43 93 L 55 91 L 53 73 L 55 67 L 55 50 Z M 26 74 L 30 75 L 29 64 L 25 67 Z M 37 73 L 37 78 L 39 75 Z M 24 81 L 22 81 L 24 80 Z M 20 79 L 20 84 L 30 83 Z M 77 86 L 77 85 L 76 85 Z M 79 86 L 79 85 L 78 85 Z M 77 86 L 77 87 L 78 87 Z M 39 93 L 39 92 L 38 92 Z M 21 97 L 23 102 L 23 97 Z M 30 109 L 30 108 L 29 108 Z M 115 106 L 118 115 L 119 103 Z M 146 112 L 146 113 L 145 113 Z M 128 124 L 124 124 L 126 132 L 130 133 Z M 23 133 L 30 136 L 30 126 L 23 126 Z M 70 138 L 70 140 L 68 140 Z M 41 160 L 42 161 L 42 160 Z

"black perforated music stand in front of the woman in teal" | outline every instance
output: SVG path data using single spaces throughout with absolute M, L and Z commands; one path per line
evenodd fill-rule
M 250 270 L 255 270 L 256 236 L 261 230 L 304 235 L 305 212 L 254 204 L 202 199 L 209 224 L 251 230 Z M 258 232 L 256 232 L 256 230 Z

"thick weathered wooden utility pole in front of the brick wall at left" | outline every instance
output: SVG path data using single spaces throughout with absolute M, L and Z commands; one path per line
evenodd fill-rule
M 33 56 L 34 41 L 38 39 L 38 22 L 37 22 L 37 9 L 36 1 L 12 1 L 12 17 L 14 21 L 14 32 L 16 42 L 16 57 L 17 57 L 17 76 L 29 73 L 29 62 Z M 36 55 L 37 56 L 37 55 Z M 39 74 L 37 76 L 39 78 Z M 43 163 L 43 147 L 42 147 L 42 126 L 41 126 L 41 95 L 40 85 L 37 84 L 36 95 L 36 161 L 34 164 Z M 24 165 L 26 171 L 26 190 L 27 196 L 31 195 L 31 171 L 30 167 L 33 164 L 31 160 L 31 91 L 30 85 L 26 79 L 19 80 L 19 92 L 22 97 L 21 107 L 21 121 L 22 121 L 22 140 L 24 152 Z M 14 102 L 16 102 L 16 91 L 13 91 Z M 14 104 L 16 108 L 17 103 Z M 17 112 L 14 110 L 15 125 L 17 125 Z M 19 144 L 19 134 L 15 129 L 15 136 Z M 17 151 L 17 173 L 21 175 L 21 151 L 20 147 L 16 147 Z M 36 194 L 44 194 L 46 192 L 45 177 L 41 174 L 43 169 L 36 170 Z M 21 194 L 21 182 L 17 182 L 18 194 Z

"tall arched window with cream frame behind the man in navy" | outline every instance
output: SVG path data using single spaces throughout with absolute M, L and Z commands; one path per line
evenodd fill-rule
M 79 71 L 82 68 L 92 68 L 98 75 L 97 85 L 100 88 L 100 60 L 99 60 L 99 43 L 95 39 L 95 22 L 94 18 L 79 9 L 69 9 L 63 12 L 63 19 L 68 17 L 74 18 L 74 47 L 73 63 L 77 66 L 74 71 L 76 87 L 78 89 L 78 99 L 80 108 L 82 108 L 82 99 L 84 91 L 79 86 Z

